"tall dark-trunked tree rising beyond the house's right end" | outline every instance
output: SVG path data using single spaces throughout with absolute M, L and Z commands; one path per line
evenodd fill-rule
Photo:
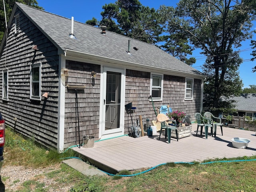
M 169 11 L 169 34 L 183 34 L 202 50 L 207 59 L 203 72 L 207 75 L 204 92 L 208 107 L 220 108 L 220 98 L 238 96 L 242 80 L 237 72 L 242 58 L 235 48 L 252 38 L 255 0 L 180 0 Z

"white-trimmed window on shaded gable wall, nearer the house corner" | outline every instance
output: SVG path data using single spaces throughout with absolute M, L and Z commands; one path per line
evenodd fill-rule
M 41 100 L 41 63 L 30 66 L 30 99 Z

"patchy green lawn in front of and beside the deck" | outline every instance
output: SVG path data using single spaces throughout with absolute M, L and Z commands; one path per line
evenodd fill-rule
M 49 151 L 46 153 L 46 151 Z M 4 165 L 21 165 L 44 168 L 58 165 L 57 170 L 44 173 L 46 178 L 60 185 L 70 186 L 70 192 L 255 192 L 256 161 L 219 162 L 228 160 L 250 160 L 252 157 L 232 159 L 214 159 L 204 162 L 210 164 L 175 164 L 168 162 L 149 172 L 137 174 L 145 170 L 123 171 L 116 176 L 84 176 L 66 164 L 62 158 L 79 157 L 72 150 L 58 154 L 35 144 L 33 139 L 21 137 L 10 128 L 6 129 L 6 145 L 4 149 Z M 137 174 L 124 177 L 120 175 Z M 40 176 L 38 176 L 40 178 Z M 8 178 L 2 176 L 3 182 Z M 14 183 L 18 182 L 18 179 Z M 45 187 L 45 183 L 35 179 L 27 180 L 19 188 L 19 192 L 46 192 L 55 189 L 56 184 Z M 6 190 L 6 192 L 11 192 Z

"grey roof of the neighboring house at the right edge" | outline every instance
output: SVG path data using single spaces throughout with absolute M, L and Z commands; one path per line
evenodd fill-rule
M 233 99 L 237 102 L 235 109 L 239 111 L 256 111 L 256 93 L 241 94 Z

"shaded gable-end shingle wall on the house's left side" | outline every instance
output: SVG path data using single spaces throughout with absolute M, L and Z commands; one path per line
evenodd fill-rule
M 56 148 L 58 123 L 58 51 L 19 10 L 20 31 L 9 29 L 0 58 L 0 110 L 6 125 Z M 4 43 L 6 44 L 6 42 Z M 32 47 L 37 45 L 38 51 Z M 6 61 L 6 62 L 5 62 Z M 30 100 L 30 65 L 42 62 L 42 92 L 47 100 Z M 2 70 L 8 69 L 8 101 L 2 100 Z M 17 120 L 15 120 L 17 118 Z

